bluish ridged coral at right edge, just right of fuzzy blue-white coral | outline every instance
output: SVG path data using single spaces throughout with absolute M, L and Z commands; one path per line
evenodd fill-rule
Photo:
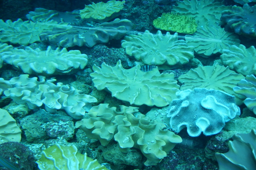
M 239 95 L 246 96 L 244 104 L 256 114 L 256 77 L 254 75 L 246 75 L 245 79 L 238 82 L 233 90 Z

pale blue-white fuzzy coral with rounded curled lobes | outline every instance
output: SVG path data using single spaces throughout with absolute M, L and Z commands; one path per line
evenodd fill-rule
M 235 97 L 214 89 L 196 88 L 176 93 L 178 99 L 170 104 L 167 117 L 170 127 L 180 132 L 187 127 L 190 136 L 213 135 L 220 132 L 225 122 L 240 115 Z

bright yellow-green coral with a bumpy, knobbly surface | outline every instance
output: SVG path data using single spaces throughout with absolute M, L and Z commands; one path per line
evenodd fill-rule
M 193 17 L 188 17 L 179 13 L 163 13 L 153 21 L 155 28 L 159 30 L 173 31 L 184 34 L 196 32 L 197 24 Z

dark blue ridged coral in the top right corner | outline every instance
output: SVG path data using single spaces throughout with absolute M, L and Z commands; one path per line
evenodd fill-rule
M 224 10 L 220 18 L 226 24 L 227 30 L 233 30 L 236 34 L 256 38 L 256 5 L 244 4 L 233 6 L 231 10 Z

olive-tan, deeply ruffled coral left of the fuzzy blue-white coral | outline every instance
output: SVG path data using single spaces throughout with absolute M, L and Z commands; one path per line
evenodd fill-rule
M 100 104 L 92 107 L 89 119 L 78 121 L 76 128 L 84 130 L 90 138 L 99 139 L 104 146 L 116 140 L 124 153 L 132 147 L 138 148 L 147 158 L 146 166 L 156 165 L 182 139 L 174 132 L 163 130 L 166 128 L 163 123 L 156 123 L 137 112 L 137 107 L 120 106 L 118 112 L 115 107 Z

